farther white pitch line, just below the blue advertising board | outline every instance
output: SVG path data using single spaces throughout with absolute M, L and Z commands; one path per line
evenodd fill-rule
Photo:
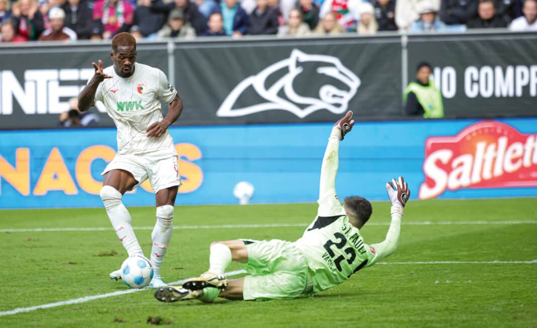
M 234 228 L 284 228 L 308 227 L 310 223 L 273 223 L 273 224 L 215 224 L 215 225 L 175 225 L 173 229 L 234 229 Z M 417 221 L 402 222 L 403 225 L 488 225 L 488 224 L 537 224 L 537 220 L 525 221 Z M 390 225 L 389 222 L 369 222 L 371 225 Z M 154 227 L 133 227 L 134 230 L 153 230 Z M 4 228 L 0 232 L 50 232 L 50 231 L 106 231 L 111 227 L 95 228 Z

